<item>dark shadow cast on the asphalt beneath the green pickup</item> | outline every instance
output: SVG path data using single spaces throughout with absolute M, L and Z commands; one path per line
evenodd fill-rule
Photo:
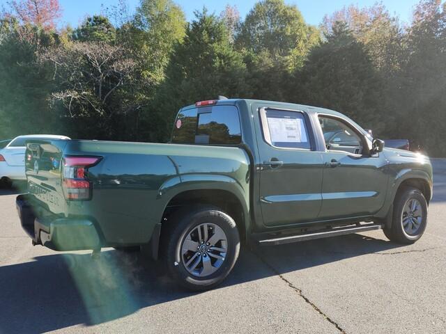
M 390 241 L 351 234 L 245 248 L 233 273 L 217 289 L 397 247 L 400 245 Z M 139 253 L 117 250 L 105 250 L 98 259 L 63 253 L 0 267 L 0 333 L 42 333 L 102 324 L 197 295 L 177 287 L 160 267 Z

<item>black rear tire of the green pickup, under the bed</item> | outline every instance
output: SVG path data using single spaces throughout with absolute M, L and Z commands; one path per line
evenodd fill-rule
M 217 269 L 213 267 L 212 270 L 216 270 L 215 272 L 208 276 L 199 277 L 190 273 L 190 271 L 186 269 L 185 261 L 183 260 L 182 247 L 186 237 L 193 234 L 194 231 L 197 232 L 197 227 L 204 223 L 207 223 L 210 226 L 210 232 L 208 234 L 209 241 L 213 235 L 211 234 L 212 226 L 214 226 L 215 233 L 218 228 L 224 232 L 226 237 L 226 253 L 224 253 L 224 260 L 222 260 L 220 267 Z M 218 228 L 215 227 L 215 225 Z M 222 283 L 224 278 L 226 278 L 233 269 L 234 264 L 236 264 L 238 253 L 240 252 L 240 236 L 238 234 L 236 222 L 233 221 L 231 216 L 215 207 L 197 207 L 190 209 L 187 212 L 181 211 L 174 214 L 169 222 L 169 228 L 164 230 L 163 234 L 164 249 L 162 250 L 162 254 L 164 255 L 164 261 L 170 276 L 183 287 L 193 291 L 212 289 L 216 285 Z M 197 242 L 200 246 L 199 241 Z M 212 251 L 209 250 L 209 253 L 210 252 Z M 197 253 L 199 254 L 199 250 L 197 250 Z M 207 250 L 206 254 L 208 254 Z M 193 256 L 196 256 L 196 254 Z M 191 255 L 191 257 L 193 256 Z M 205 252 L 203 252 L 203 255 L 201 256 L 201 259 L 206 257 Z M 215 257 L 210 257 L 208 255 L 208 261 L 210 260 L 215 261 Z M 216 262 L 214 262 L 214 264 L 215 263 Z

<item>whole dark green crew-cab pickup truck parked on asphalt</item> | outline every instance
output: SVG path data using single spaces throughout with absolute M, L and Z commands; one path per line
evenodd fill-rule
M 171 142 L 29 141 L 24 230 L 54 250 L 141 248 L 178 283 L 222 282 L 240 242 L 383 229 L 413 243 L 432 196 L 428 157 L 383 147 L 328 109 L 208 100 L 180 109 Z

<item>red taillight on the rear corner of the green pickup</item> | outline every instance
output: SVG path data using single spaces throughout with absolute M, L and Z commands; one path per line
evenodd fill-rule
M 63 158 L 63 193 L 67 200 L 91 199 L 91 182 L 88 168 L 98 164 L 101 157 L 64 157 Z

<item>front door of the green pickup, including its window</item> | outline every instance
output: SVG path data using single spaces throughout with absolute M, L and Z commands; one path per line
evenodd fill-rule
M 319 115 L 318 120 L 326 145 L 319 219 L 375 214 L 387 189 L 384 154 L 371 156 L 364 135 L 344 118 Z

